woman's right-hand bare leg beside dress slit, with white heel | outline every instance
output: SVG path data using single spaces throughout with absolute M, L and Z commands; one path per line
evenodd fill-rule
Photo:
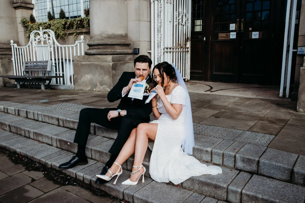
M 141 166 L 148 146 L 148 139 L 154 141 L 158 130 L 156 123 L 141 123 L 138 125 L 136 138 L 135 138 L 135 161 L 134 166 Z M 138 168 L 133 167 L 132 171 Z M 139 173 L 133 174 L 130 180 L 136 182 L 144 169 L 141 168 Z

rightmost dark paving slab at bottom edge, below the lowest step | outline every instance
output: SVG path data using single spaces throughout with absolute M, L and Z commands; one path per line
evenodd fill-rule
M 88 191 L 88 189 L 86 190 L 82 187 L 67 185 L 67 186 L 63 186 L 61 188 L 66 191 L 69 191 L 81 198 L 84 198 L 85 200 L 88 200 L 92 203 L 111 203 L 114 201 L 114 198 L 95 195 L 92 192 Z

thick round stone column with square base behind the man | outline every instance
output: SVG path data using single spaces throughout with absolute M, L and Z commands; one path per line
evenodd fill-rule
M 90 0 L 90 40 L 75 57 L 74 89 L 108 92 L 124 71 L 133 71 L 127 38 L 127 0 Z

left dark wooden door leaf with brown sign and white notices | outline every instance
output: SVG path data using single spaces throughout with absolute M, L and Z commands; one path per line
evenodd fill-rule
M 210 80 L 238 82 L 240 2 L 211 1 Z

